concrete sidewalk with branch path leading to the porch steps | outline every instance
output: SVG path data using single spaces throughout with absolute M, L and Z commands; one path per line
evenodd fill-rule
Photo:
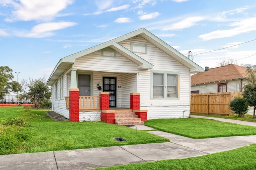
M 212 117 L 208 118 L 212 119 Z M 144 125 L 131 128 L 137 130 L 152 129 Z M 149 131 L 148 133 L 166 137 L 172 143 L 0 155 L 0 170 L 83 170 L 112 165 L 202 156 L 256 143 L 256 135 L 190 139 L 162 131 Z

